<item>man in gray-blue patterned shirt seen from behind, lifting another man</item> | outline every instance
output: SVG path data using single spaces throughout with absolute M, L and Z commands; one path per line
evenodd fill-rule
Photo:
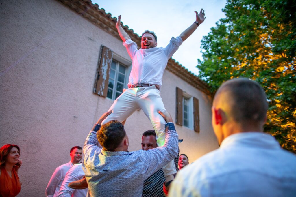
M 178 155 L 173 120 L 168 112 L 159 113 L 167 122 L 164 146 L 134 152 L 128 152 L 128 136 L 120 122 L 110 121 L 100 129 L 110 112 L 102 115 L 83 147 L 90 196 L 141 196 L 144 180 Z

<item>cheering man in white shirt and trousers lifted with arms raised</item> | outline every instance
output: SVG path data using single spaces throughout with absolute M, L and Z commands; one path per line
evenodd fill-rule
M 163 146 L 165 142 L 165 120 L 157 111 L 166 111 L 160 97 L 160 87 L 162 85 L 163 72 L 167 66 L 168 59 L 173 56 L 178 47 L 186 40 L 196 28 L 205 20 L 205 11 L 196 13 L 196 20 L 190 27 L 181 33 L 177 38 L 171 38 L 170 43 L 165 47 L 157 47 L 157 37 L 154 32 L 146 30 L 142 34 L 141 49 L 131 40 L 128 34 L 120 25 L 120 18 L 116 23 L 116 28 L 123 40 L 129 56 L 133 61 L 131 74 L 128 82 L 128 89 L 114 101 L 108 111 L 112 113 L 102 122 L 102 125 L 111 121 L 125 121 L 134 111 L 141 109 L 150 119 L 156 133 L 157 145 Z M 137 120 L 138 121 L 138 120 Z M 165 174 L 165 186 L 168 186 L 176 167 L 172 160 L 163 167 Z

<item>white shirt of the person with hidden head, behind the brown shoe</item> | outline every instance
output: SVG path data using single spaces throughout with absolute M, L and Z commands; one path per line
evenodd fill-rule
M 59 197 L 86 197 L 87 190 L 86 189 L 72 189 L 68 187 L 68 184 L 82 179 L 84 176 L 84 172 L 82 170 L 82 164 L 73 165 L 70 170 L 68 170 L 65 179 L 59 189 Z

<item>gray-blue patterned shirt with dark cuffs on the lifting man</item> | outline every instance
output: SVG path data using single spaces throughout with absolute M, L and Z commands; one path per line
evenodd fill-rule
M 178 155 L 178 134 L 173 123 L 165 125 L 165 144 L 147 151 L 102 150 L 91 131 L 83 147 L 83 170 L 90 196 L 141 196 L 144 180 Z

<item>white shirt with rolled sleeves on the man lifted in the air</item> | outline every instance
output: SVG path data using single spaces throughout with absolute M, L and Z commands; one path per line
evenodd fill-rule
M 123 45 L 133 61 L 128 87 L 138 83 L 161 86 L 168 59 L 173 56 L 182 42 L 182 38 L 172 37 L 165 48 L 153 47 L 138 50 L 135 42 L 130 39 L 126 40 Z

